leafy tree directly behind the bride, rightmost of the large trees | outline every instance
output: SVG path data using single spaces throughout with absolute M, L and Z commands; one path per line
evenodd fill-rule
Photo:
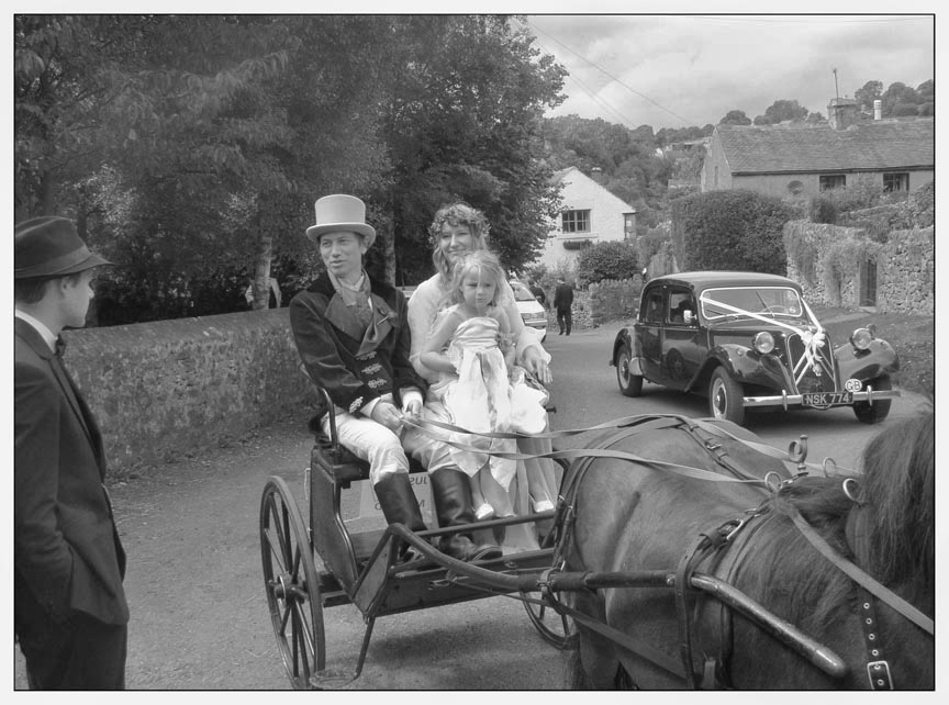
M 485 213 L 491 247 L 520 269 L 557 213 L 538 133 L 544 111 L 562 99 L 563 69 L 507 18 L 404 15 L 392 24 L 383 126 L 391 171 L 375 198 L 391 213 L 397 280 L 431 273 L 428 224 L 456 200 Z

